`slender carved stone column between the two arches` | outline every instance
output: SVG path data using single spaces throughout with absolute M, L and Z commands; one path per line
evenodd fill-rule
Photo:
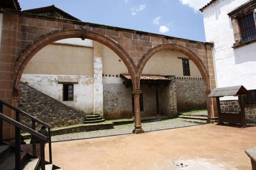
M 141 128 L 141 120 L 140 120 L 140 93 L 142 90 L 133 90 L 132 94 L 134 97 L 134 130 L 132 133 L 140 134 L 144 133 L 144 130 Z

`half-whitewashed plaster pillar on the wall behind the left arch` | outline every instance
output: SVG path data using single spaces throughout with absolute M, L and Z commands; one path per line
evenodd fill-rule
M 103 117 L 102 47 L 102 44 L 93 42 L 93 113 L 101 117 Z

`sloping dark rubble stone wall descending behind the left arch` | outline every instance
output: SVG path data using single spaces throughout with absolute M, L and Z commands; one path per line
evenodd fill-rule
M 18 99 L 18 108 L 36 117 L 52 127 L 61 127 L 84 121 L 84 114 L 55 100 L 52 97 L 20 82 L 22 94 Z M 32 127 L 30 119 L 20 116 L 20 122 L 28 127 Z M 36 123 L 37 128 L 41 125 Z

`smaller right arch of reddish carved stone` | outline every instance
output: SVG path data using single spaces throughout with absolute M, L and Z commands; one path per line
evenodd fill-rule
M 185 48 L 179 44 L 176 43 L 166 43 L 166 44 L 159 44 L 152 49 L 150 49 L 140 60 L 140 64 L 138 66 L 138 76 L 137 76 L 137 87 L 140 89 L 140 76 L 142 74 L 143 68 L 147 64 L 148 60 L 158 51 L 161 50 L 172 50 L 172 51 L 179 51 L 182 54 L 186 55 L 188 58 L 190 58 L 197 66 L 198 70 L 200 71 L 203 80 L 204 80 L 204 86 L 205 86 L 205 91 L 210 90 L 210 79 L 209 79 L 209 74 L 207 72 L 206 67 L 204 66 L 204 63 L 202 60 L 191 50 L 188 48 Z

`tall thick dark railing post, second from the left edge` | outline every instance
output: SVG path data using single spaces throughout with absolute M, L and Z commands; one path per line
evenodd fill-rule
M 20 122 L 20 113 L 15 112 L 16 121 Z M 15 170 L 20 170 L 20 128 L 15 126 Z

